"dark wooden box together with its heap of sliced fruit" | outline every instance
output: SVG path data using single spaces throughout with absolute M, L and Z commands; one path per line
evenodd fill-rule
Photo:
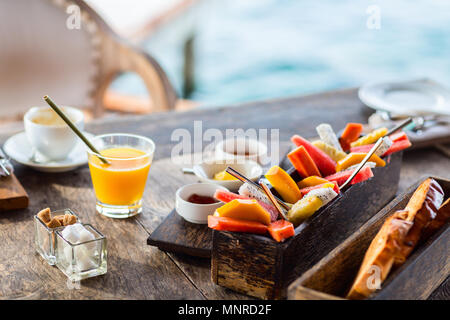
M 338 137 L 322 124 L 317 141 L 294 135 L 292 168 L 274 166 L 258 183 L 227 170 L 246 183 L 238 193 L 215 193 L 225 204 L 208 217 L 213 282 L 258 298 L 285 297 L 292 281 L 395 196 L 401 151 L 411 144 L 398 128 L 362 129 L 349 123 Z

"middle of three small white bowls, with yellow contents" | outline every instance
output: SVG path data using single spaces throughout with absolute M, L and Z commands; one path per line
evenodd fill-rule
M 217 162 L 202 162 L 194 165 L 192 170 L 194 174 L 202 182 L 213 183 L 221 185 L 230 191 L 237 191 L 242 185 L 240 180 L 214 180 L 214 175 L 224 171 L 227 167 L 231 167 L 239 173 L 243 174 L 252 181 L 257 181 L 263 172 L 262 167 L 252 160 L 238 160 L 231 161 L 217 161 Z

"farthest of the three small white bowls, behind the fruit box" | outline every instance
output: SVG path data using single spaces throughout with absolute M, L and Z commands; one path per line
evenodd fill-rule
M 247 159 L 261 162 L 267 156 L 267 146 L 258 140 L 234 137 L 216 145 L 217 159 Z

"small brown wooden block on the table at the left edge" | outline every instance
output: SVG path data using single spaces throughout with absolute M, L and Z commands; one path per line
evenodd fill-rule
M 14 174 L 0 177 L 0 211 L 28 207 L 28 194 Z

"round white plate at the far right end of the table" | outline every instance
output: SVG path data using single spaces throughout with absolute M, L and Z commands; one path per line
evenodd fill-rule
M 367 106 L 396 115 L 450 115 L 450 91 L 427 79 L 368 84 L 358 95 Z

